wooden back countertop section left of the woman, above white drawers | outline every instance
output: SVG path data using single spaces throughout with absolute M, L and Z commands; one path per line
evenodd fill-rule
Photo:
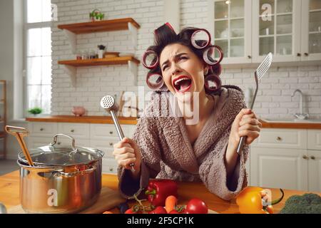
M 85 116 L 74 116 L 74 115 L 49 115 L 39 117 L 26 118 L 27 121 L 31 122 L 55 122 L 55 123 L 112 123 L 113 119 L 111 116 L 100 116 L 100 115 L 85 115 Z M 136 125 L 137 118 L 133 117 L 118 117 L 120 124 L 131 124 Z

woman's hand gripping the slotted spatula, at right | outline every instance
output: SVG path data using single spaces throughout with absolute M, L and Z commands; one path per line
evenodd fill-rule
M 243 108 L 233 121 L 230 130 L 229 144 L 238 147 L 242 136 L 247 136 L 245 144 L 250 145 L 260 135 L 262 123 L 258 120 L 253 110 Z

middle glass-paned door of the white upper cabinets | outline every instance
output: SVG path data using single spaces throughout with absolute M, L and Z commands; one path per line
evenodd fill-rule
M 253 63 L 272 52 L 273 62 L 300 61 L 301 0 L 255 0 Z

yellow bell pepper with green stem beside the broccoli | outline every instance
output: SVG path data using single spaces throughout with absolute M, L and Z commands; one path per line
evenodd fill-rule
M 236 204 L 241 214 L 273 214 L 272 205 L 279 203 L 284 197 L 283 190 L 280 191 L 282 197 L 271 202 L 271 196 L 263 188 L 246 187 L 236 198 Z

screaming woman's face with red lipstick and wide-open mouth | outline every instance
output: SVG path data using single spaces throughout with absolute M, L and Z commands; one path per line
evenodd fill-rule
M 165 85 L 178 100 L 189 102 L 193 92 L 204 89 L 204 64 L 187 46 L 180 43 L 165 46 L 160 66 Z

